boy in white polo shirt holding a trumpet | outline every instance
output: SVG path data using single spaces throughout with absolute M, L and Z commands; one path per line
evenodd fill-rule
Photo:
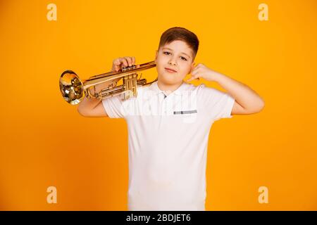
M 161 36 L 156 51 L 157 82 L 139 87 L 136 98 L 102 101 L 85 98 L 86 117 L 123 117 L 128 124 L 128 210 L 205 210 L 206 150 L 214 121 L 259 113 L 264 102 L 248 86 L 207 68 L 194 66 L 199 40 L 182 27 Z M 135 65 L 134 57 L 113 60 L 112 70 Z M 218 82 L 223 93 L 193 79 Z M 97 91 L 108 84 L 99 84 Z

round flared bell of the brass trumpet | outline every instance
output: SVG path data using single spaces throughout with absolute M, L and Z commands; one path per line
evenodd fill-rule
M 84 86 L 72 70 L 66 70 L 59 78 L 59 89 L 63 98 L 71 105 L 76 105 L 84 96 Z

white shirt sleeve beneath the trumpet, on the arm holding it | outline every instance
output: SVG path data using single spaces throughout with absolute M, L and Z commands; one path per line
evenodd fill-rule
M 104 105 L 104 110 L 106 110 L 108 117 L 124 118 L 126 114 L 123 102 L 124 100 L 122 100 L 122 94 L 119 94 L 110 98 L 104 98 L 102 100 L 102 105 Z

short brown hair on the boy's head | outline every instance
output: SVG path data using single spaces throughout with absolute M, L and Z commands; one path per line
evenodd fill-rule
M 192 49 L 194 53 L 194 60 L 199 46 L 199 40 L 196 34 L 183 27 L 172 27 L 163 32 L 163 34 L 161 35 L 159 49 L 161 48 L 161 46 L 165 44 L 170 44 L 170 42 L 175 40 L 181 40 L 186 42 L 186 44 L 189 46 L 190 49 Z

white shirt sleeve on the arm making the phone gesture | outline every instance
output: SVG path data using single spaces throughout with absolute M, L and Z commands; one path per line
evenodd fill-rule
M 235 98 L 230 94 L 201 84 L 198 89 L 198 99 L 201 110 L 211 120 L 232 117 L 231 111 Z

